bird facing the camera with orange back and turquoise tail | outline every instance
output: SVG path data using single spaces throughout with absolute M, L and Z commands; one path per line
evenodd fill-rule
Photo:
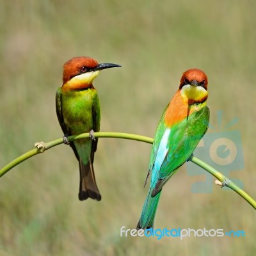
M 150 155 L 150 188 L 137 229 L 153 227 L 164 184 L 188 161 L 208 129 L 207 84 L 202 70 L 192 68 L 184 72 L 179 90 L 161 116 Z

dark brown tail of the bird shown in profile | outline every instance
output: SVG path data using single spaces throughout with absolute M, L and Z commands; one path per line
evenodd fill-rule
M 79 160 L 80 170 L 80 186 L 79 186 L 79 200 L 83 201 L 87 198 L 92 198 L 97 201 L 101 200 L 101 195 L 96 184 L 93 164 L 89 159 L 87 164 L 84 164 L 82 160 Z

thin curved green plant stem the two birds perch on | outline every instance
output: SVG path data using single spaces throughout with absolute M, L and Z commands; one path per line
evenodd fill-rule
M 151 144 L 153 143 L 152 138 L 136 135 L 136 134 L 127 134 L 122 132 L 94 132 L 94 136 L 96 138 L 120 138 L 120 139 L 127 139 L 127 140 L 142 141 L 142 142 L 151 143 Z M 89 138 L 89 133 L 68 136 L 68 141 L 79 140 L 82 138 Z M 0 170 L 0 177 L 2 177 L 6 172 L 10 171 L 17 164 L 22 163 L 23 161 L 25 161 L 26 159 L 29 159 L 32 156 L 43 153 L 45 150 L 48 150 L 49 148 L 60 145 L 61 143 L 63 143 L 62 138 L 58 140 L 50 141 L 48 143 L 42 143 L 42 146 L 40 148 L 34 148 L 32 150 L 29 150 L 22 156 L 17 157 L 11 163 L 4 166 Z M 204 170 L 206 170 L 207 172 L 211 173 L 214 177 L 216 177 L 216 179 L 220 180 L 220 182 L 223 182 L 223 186 L 227 186 L 228 188 L 231 188 L 234 191 L 236 191 L 237 194 L 241 195 L 250 205 L 252 205 L 254 209 L 256 209 L 255 200 L 253 200 L 251 196 L 245 193 L 243 189 L 239 188 L 236 184 L 234 184 L 234 182 L 229 180 L 225 175 L 218 172 L 217 170 L 209 166 L 209 164 L 204 163 L 204 161 L 198 159 L 195 156 L 191 156 L 189 158 L 189 161 L 197 164 L 198 166 L 204 168 Z

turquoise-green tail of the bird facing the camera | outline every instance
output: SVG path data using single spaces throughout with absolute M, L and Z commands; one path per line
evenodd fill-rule
M 140 220 L 137 225 L 137 229 L 148 229 L 153 228 L 154 220 L 156 216 L 156 209 L 159 202 L 159 198 L 161 195 L 161 191 L 157 193 L 157 195 L 152 196 L 152 191 L 154 189 L 150 188 L 148 191 L 147 198 L 143 205 L 143 209 L 141 212 Z

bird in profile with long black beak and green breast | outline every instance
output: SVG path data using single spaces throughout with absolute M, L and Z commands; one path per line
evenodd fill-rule
M 56 112 L 62 131 L 63 142 L 69 144 L 79 161 L 79 200 L 88 197 L 100 200 L 93 158 L 98 139 L 93 131 L 100 129 L 100 104 L 93 79 L 105 68 L 122 67 L 111 63 L 97 63 L 89 57 L 75 57 L 63 66 L 63 85 L 56 92 Z M 67 136 L 90 132 L 90 138 L 68 141 Z

